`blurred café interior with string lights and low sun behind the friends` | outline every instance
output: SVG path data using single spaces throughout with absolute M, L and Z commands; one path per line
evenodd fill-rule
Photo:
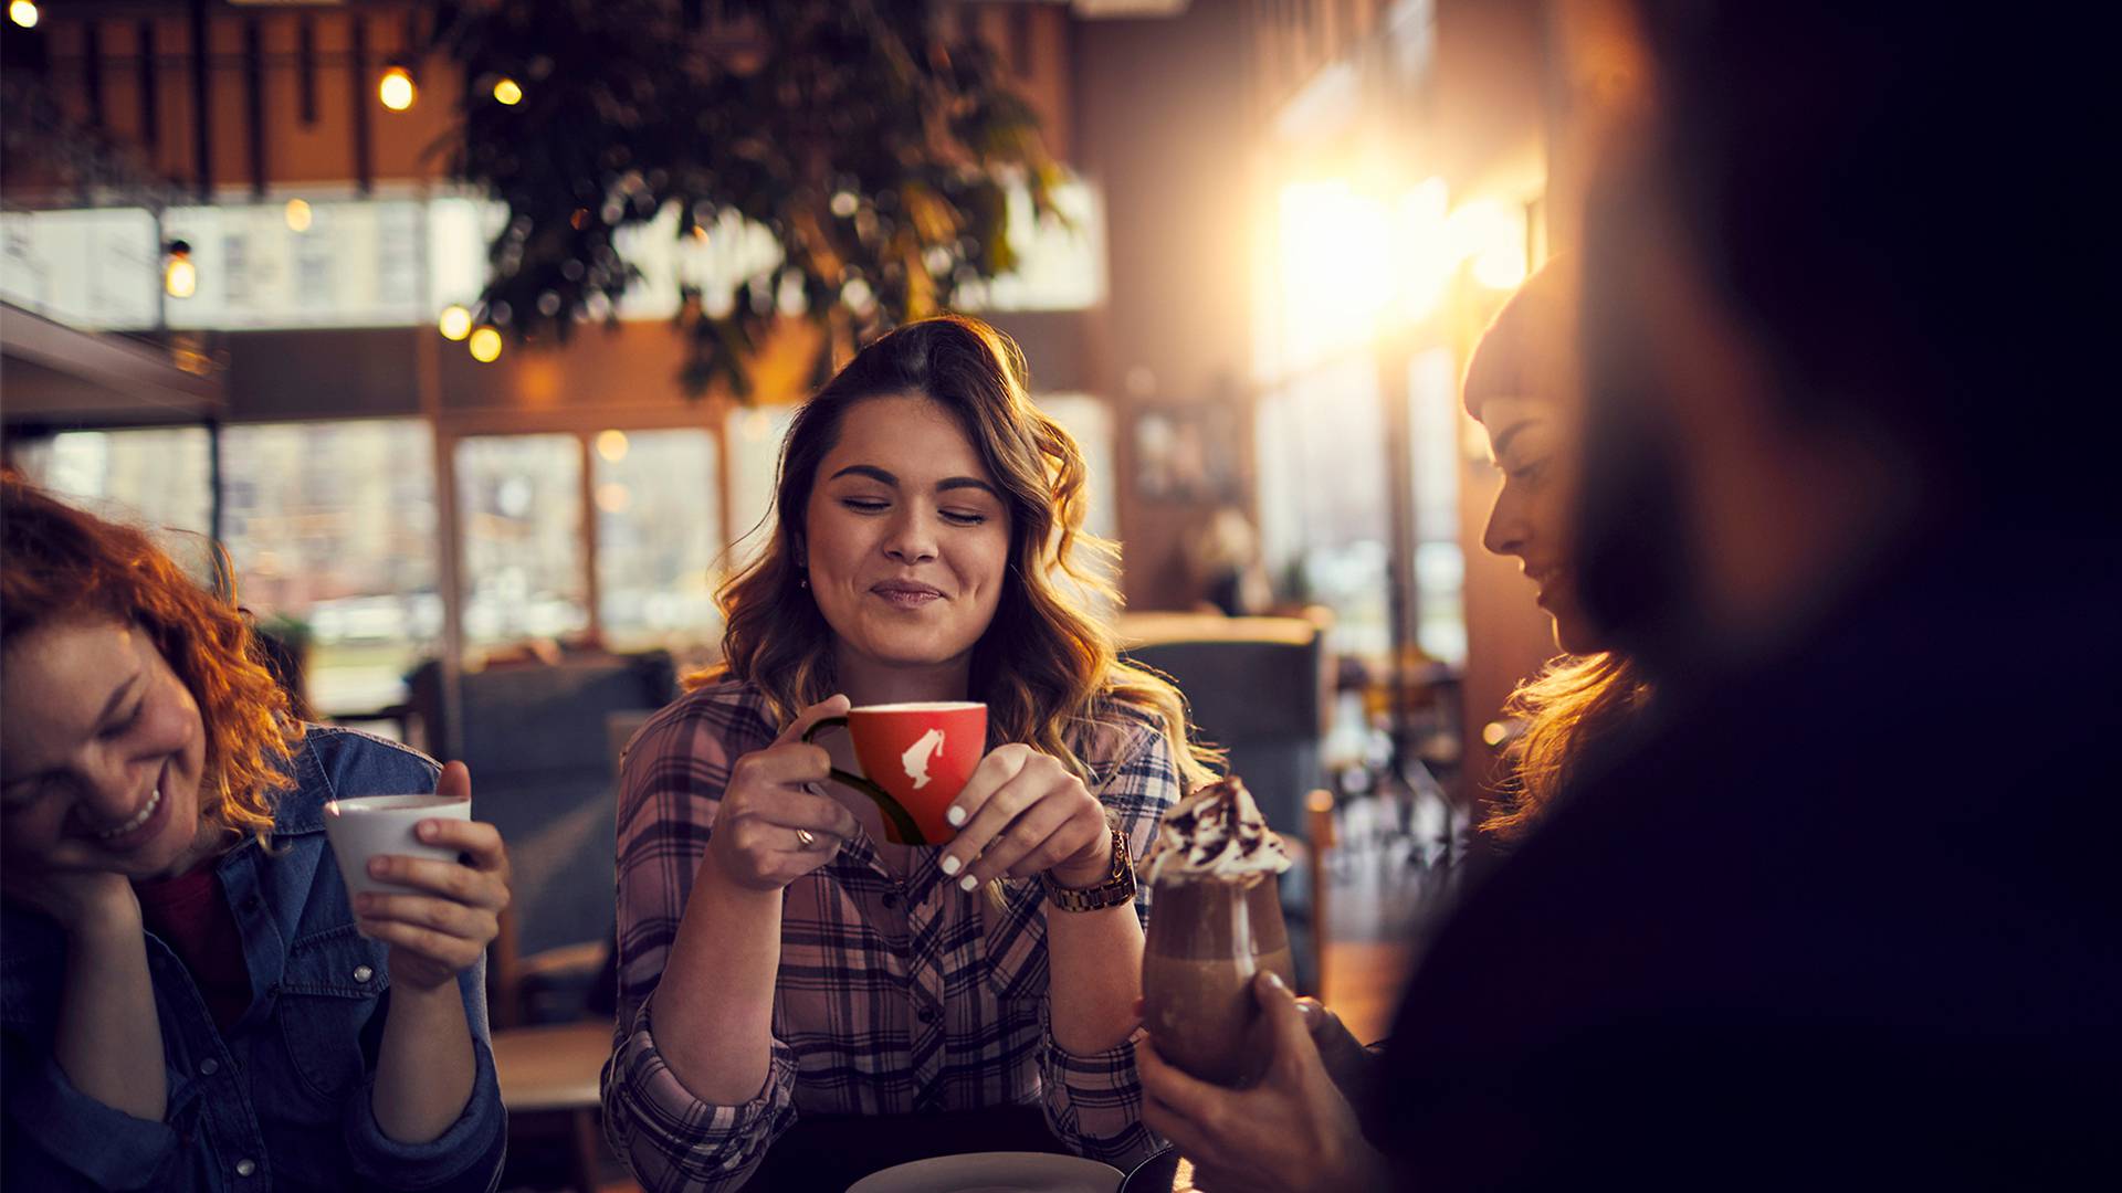
M 590 1155 L 618 749 L 715 662 L 792 412 L 885 323 L 1023 346 L 1120 546 L 1118 635 L 1303 843 L 1301 985 L 1362 1038 L 1553 654 L 1481 550 L 1458 380 L 1570 246 L 1583 127 L 1632 79 L 1608 4 L 934 8 L 970 157 L 915 138 L 893 172 L 823 121 L 808 174 L 719 191 L 671 113 L 743 155 L 876 64 L 713 0 L 13 0 L 0 28 L 6 461 L 227 586 L 314 720 L 469 762 L 518 875 L 505 1091 L 579 1185 L 624 1182 Z M 732 110 L 770 96 L 660 70 L 762 53 L 817 91 Z

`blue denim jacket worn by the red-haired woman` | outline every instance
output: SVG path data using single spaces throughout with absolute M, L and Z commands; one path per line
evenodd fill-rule
M 386 949 L 354 932 L 325 843 L 325 800 L 433 792 L 435 764 L 397 743 L 312 726 L 274 811 L 272 849 L 244 841 L 216 872 L 244 940 L 250 1006 L 227 1036 L 176 953 L 146 936 L 168 1117 L 134 1119 L 74 1089 L 51 1055 L 64 938 L 0 911 L 6 1189 L 446 1189 L 501 1180 L 505 1112 L 486 1025 L 486 966 L 458 974 L 477 1072 L 463 1117 L 427 1144 L 376 1125 L 369 1087 L 390 1013 Z

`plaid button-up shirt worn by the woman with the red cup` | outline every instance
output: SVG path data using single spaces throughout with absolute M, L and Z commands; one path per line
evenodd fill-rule
M 796 1114 L 904 1114 L 1042 1104 L 1069 1148 L 1123 1170 L 1161 1142 L 1142 1125 L 1135 1047 L 1076 1055 L 1048 1025 L 1046 898 L 1006 885 L 1004 909 L 915 853 L 902 881 L 866 834 L 787 887 L 772 1061 L 747 1104 L 694 1097 L 656 1049 L 662 979 L 738 758 L 777 737 L 743 681 L 677 701 L 626 749 L 620 824 L 620 1015 L 605 1066 L 605 1131 L 641 1185 L 734 1189 Z M 1118 709 L 1072 741 L 1091 790 L 1140 858 L 1180 794 L 1156 722 Z M 1148 923 L 1150 889 L 1135 913 Z

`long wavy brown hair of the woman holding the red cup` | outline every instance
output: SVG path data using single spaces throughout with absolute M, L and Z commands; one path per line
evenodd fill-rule
M 840 420 L 864 399 L 921 395 L 966 431 L 1010 507 L 1010 567 L 995 620 L 972 650 L 972 698 L 987 703 L 991 743 L 1021 741 L 1086 775 L 1069 741 L 1118 709 L 1152 717 L 1190 790 L 1216 777 L 1220 751 L 1195 743 L 1186 701 L 1159 675 L 1118 658 L 1112 633 L 1082 596 L 1118 594 L 1082 565 L 1112 558 L 1112 543 L 1082 529 L 1084 463 L 1076 439 L 1029 397 L 1025 357 L 978 318 L 908 323 L 847 363 L 796 412 L 781 442 L 766 550 L 721 586 L 719 669 L 690 677 L 747 679 L 783 724 L 834 694 L 832 626 L 802 590 L 794 535 L 804 524 L 817 467 Z

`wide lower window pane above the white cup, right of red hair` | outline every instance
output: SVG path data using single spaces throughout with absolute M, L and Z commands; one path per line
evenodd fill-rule
M 414 418 L 274 422 L 223 433 L 223 529 L 238 592 L 310 637 L 323 715 L 405 698 L 439 650 L 435 448 Z

